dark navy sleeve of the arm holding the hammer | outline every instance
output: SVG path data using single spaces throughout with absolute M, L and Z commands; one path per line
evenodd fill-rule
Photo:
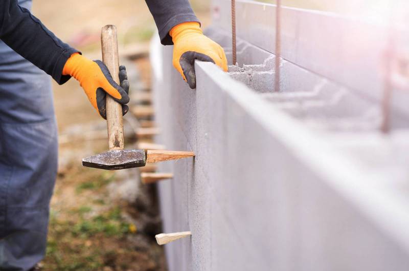
M 57 38 L 29 10 L 20 7 L 17 0 L 0 0 L 0 39 L 58 84 L 71 78 L 62 75 L 62 69 L 78 51 Z

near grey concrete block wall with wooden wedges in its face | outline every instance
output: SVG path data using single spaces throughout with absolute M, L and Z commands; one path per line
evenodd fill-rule
M 191 90 L 152 41 L 156 141 L 196 153 L 160 165 L 163 230 L 192 232 L 169 270 L 407 270 L 403 124 L 382 136 L 376 103 L 287 61 L 274 93 L 275 57 L 239 45 L 240 68 L 196 62 Z

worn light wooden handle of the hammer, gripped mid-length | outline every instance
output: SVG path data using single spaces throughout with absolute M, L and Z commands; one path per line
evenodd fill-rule
M 119 81 L 119 56 L 117 28 L 112 25 L 104 26 L 101 32 L 102 61 L 117 84 Z M 124 149 L 124 128 L 122 122 L 122 106 L 106 95 L 106 124 L 108 128 L 109 150 Z

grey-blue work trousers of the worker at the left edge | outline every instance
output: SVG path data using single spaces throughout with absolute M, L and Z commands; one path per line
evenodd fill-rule
M 50 76 L 0 41 L 2 271 L 27 271 L 45 255 L 57 148 Z

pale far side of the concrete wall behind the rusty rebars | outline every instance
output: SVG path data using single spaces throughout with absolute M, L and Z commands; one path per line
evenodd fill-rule
M 276 5 L 263 3 L 265 1 L 236 2 L 237 36 L 275 53 Z M 409 61 L 409 27 L 403 23 L 407 20 L 409 2 L 396 1 L 390 5 L 392 2 L 382 1 L 382 4 L 361 7 L 356 1 L 343 4 L 356 12 L 353 16 L 286 6 L 289 3 L 298 6 L 302 2 L 308 1 L 282 3 L 280 43 L 283 58 L 340 82 L 372 100 L 383 95 L 387 77 L 383 67 L 388 61 L 392 65 L 392 77 L 405 77 L 407 84 L 407 69 L 402 72 L 397 63 L 407 64 Z M 230 33 L 231 1 L 213 0 L 212 3 L 213 27 Z M 329 1 L 315 4 L 336 5 Z M 366 13 L 380 5 L 387 6 L 380 8 L 382 12 Z M 394 87 L 393 115 L 409 115 L 406 93 L 407 86 L 404 89 Z

